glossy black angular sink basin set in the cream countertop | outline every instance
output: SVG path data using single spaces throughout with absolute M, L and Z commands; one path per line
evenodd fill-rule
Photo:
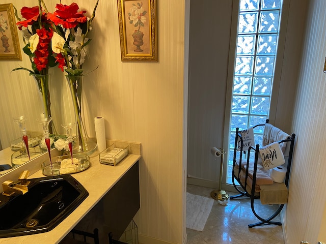
M 0 238 L 50 231 L 89 195 L 71 175 L 29 181 L 24 195 L 0 194 Z

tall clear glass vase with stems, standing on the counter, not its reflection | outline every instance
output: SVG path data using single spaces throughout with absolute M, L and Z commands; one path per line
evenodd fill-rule
M 70 94 L 73 103 L 73 110 L 76 119 L 76 136 L 73 140 L 73 153 L 84 153 L 91 155 L 97 148 L 95 140 L 88 137 L 82 113 L 82 94 L 84 76 L 66 76 L 70 88 Z

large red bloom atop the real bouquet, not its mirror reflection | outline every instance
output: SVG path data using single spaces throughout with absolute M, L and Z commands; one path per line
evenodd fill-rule
M 85 23 L 87 17 L 84 16 L 86 11 L 77 12 L 79 7 L 76 3 L 71 5 L 56 5 L 57 11 L 53 14 L 48 13 L 47 19 L 51 20 L 55 25 L 61 24 L 64 28 L 70 29 L 76 27 L 79 23 Z

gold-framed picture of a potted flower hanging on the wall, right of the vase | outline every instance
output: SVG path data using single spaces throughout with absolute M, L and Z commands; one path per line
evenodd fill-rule
M 118 0 L 121 61 L 157 61 L 155 0 Z

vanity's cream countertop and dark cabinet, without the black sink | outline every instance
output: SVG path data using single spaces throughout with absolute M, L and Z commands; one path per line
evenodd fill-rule
M 108 145 L 112 142 L 107 140 Z M 0 238 L 0 243 L 59 243 L 76 225 L 79 227 L 82 224 L 84 217 L 90 218 L 94 209 L 100 209 L 95 216 L 99 214 L 99 217 L 103 219 L 105 234 L 108 232 L 112 232 L 116 236 L 122 234 L 123 228 L 127 227 L 140 208 L 139 159 L 141 158 L 141 145 L 140 143 L 114 142 L 117 147 L 129 145 L 129 155 L 116 166 L 100 164 L 97 151 L 91 155 L 91 166 L 83 172 L 72 174 L 88 191 L 89 196 L 57 227 L 44 233 Z M 55 152 L 53 151 L 53 154 Z M 39 156 L 23 166 L 11 170 L 0 177 L 1 182 L 7 179 L 17 180 L 17 175 L 23 170 L 31 172 L 29 178 L 45 177 L 41 172 L 40 165 L 46 157 L 48 157 L 46 154 Z M 21 207 L 24 207 L 25 204 L 28 203 L 22 203 Z

